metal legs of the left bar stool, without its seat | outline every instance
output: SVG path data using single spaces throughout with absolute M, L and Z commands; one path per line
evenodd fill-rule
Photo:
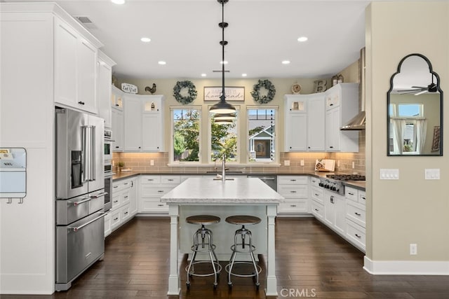
M 201 237 L 201 241 L 200 241 Z M 213 282 L 213 288 L 217 288 L 217 278 L 218 274 L 220 274 L 220 271 L 222 270 L 222 266 L 220 263 L 218 263 L 218 258 L 215 254 L 215 245 L 213 244 L 212 239 L 212 231 L 205 228 L 204 225 L 201 225 L 201 228 L 196 230 L 194 237 L 193 237 L 193 246 L 192 246 L 192 259 L 190 260 L 189 265 L 186 267 L 187 271 L 187 281 L 186 285 L 187 288 L 190 287 L 190 276 L 211 276 L 214 275 L 214 282 Z M 199 260 L 195 261 L 196 253 L 208 253 L 209 254 L 209 260 Z M 211 263 L 213 272 L 212 273 L 206 273 L 206 274 L 200 274 L 195 273 L 194 265 L 198 265 L 200 263 Z

